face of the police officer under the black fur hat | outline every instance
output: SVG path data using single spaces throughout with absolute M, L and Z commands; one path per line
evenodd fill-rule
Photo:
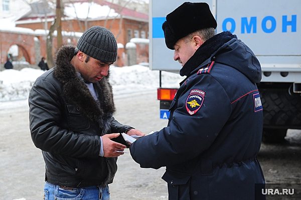
M 184 38 L 179 39 L 174 48 L 174 60 L 178 60 L 182 66 L 184 66 L 184 64 L 197 50 L 193 39 L 189 42 L 186 42 Z

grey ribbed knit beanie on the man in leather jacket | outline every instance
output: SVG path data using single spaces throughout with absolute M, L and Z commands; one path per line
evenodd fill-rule
M 117 42 L 113 33 L 102 26 L 88 28 L 77 42 L 77 48 L 103 62 L 114 62 L 117 57 Z

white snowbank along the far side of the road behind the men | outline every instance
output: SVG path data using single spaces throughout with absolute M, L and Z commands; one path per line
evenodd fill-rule
M 34 81 L 45 71 L 34 68 L 21 70 L 5 69 L 0 71 L 0 108 L 10 104 L 24 103 Z M 163 87 L 178 87 L 184 77 L 177 73 L 162 71 Z M 110 67 L 110 83 L 114 97 L 121 94 L 145 92 L 159 87 L 159 71 L 147 66 L 132 65 Z M 20 101 L 21 100 L 21 101 Z M 6 102 L 4 104 L 4 102 Z

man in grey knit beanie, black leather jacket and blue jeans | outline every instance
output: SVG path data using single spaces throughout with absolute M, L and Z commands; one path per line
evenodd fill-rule
M 45 199 L 109 199 L 116 157 L 126 147 L 119 133 L 142 135 L 113 117 L 110 65 L 117 43 L 101 26 L 74 46 L 62 46 L 55 67 L 37 78 L 29 95 L 30 130 L 46 163 Z

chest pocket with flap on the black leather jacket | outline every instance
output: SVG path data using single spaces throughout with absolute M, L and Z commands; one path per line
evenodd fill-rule
M 81 108 L 73 104 L 66 104 L 68 111 L 68 126 L 70 130 L 86 130 L 90 127 L 90 122 L 87 117 L 83 116 L 81 113 Z

